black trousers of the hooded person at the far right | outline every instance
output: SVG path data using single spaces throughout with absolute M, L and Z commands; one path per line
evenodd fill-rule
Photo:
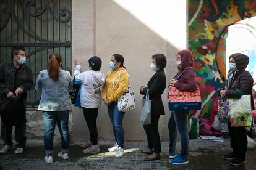
M 237 158 L 244 159 L 247 151 L 247 134 L 245 127 L 231 127 L 228 123 L 230 145 Z

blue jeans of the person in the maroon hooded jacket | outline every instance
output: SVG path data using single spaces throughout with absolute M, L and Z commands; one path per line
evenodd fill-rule
M 189 155 L 188 115 L 189 111 L 172 111 L 168 123 L 170 137 L 169 152 L 175 151 L 178 130 L 181 136 L 181 156 L 184 158 L 187 158 Z

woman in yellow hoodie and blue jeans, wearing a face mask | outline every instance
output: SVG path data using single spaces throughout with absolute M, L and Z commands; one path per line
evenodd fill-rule
M 117 151 L 116 158 L 122 158 L 124 155 L 124 129 L 122 127 L 124 112 L 118 110 L 117 101 L 126 92 L 129 76 L 124 67 L 124 57 L 120 54 L 112 55 L 109 68 L 111 70 L 106 73 L 106 80 L 103 86 L 103 101 L 108 106 L 108 114 L 113 124 L 116 144 L 108 148 L 108 151 Z

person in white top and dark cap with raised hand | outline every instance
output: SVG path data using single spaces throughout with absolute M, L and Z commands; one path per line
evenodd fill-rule
M 89 60 L 88 71 L 83 72 L 81 62 L 74 60 L 76 65 L 74 76 L 77 81 L 82 83 L 80 92 L 80 103 L 83 107 L 83 115 L 90 132 L 90 141 L 92 144 L 82 144 L 81 147 L 86 148 L 84 153 L 98 153 L 100 147 L 98 146 L 98 131 L 96 126 L 96 119 L 98 116 L 98 109 L 101 105 L 101 92 L 105 81 L 105 75 L 100 71 L 101 59 L 93 56 Z

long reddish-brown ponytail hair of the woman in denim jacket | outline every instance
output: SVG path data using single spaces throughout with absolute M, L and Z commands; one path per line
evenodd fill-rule
M 53 79 L 53 81 L 57 81 L 59 79 L 59 64 L 61 62 L 61 54 L 53 53 L 49 56 L 47 71 L 49 77 Z

